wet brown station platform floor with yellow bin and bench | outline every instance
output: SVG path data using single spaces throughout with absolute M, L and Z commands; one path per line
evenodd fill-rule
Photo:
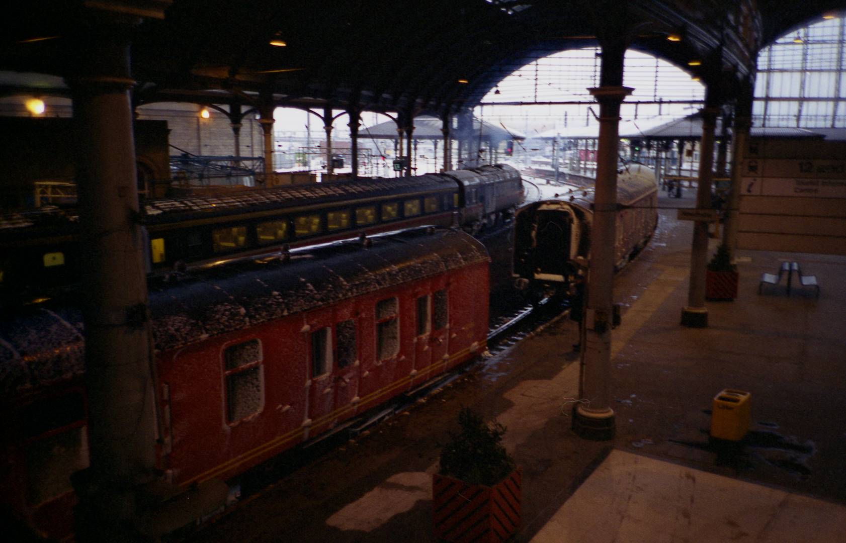
M 662 196 L 664 193 L 662 192 Z M 431 474 L 461 406 L 508 428 L 523 469 L 513 540 L 842 541 L 846 534 L 846 258 L 740 250 L 739 295 L 708 302 L 709 326 L 680 326 L 692 191 L 659 200 L 650 246 L 615 279 L 617 436 L 570 430 L 578 331 L 560 319 L 500 348 L 452 387 L 306 463 L 196 541 L 434 541 Z M 717 239 L 711 240 L 714 249 Z M 821 286 L 758 293 L 761 272 L 799 261 Z M 740 447 L 709 443 L 712 398 L 751 393 Z

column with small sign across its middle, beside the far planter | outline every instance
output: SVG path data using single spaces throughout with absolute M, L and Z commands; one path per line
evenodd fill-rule
M 699 151 L 699 178 L 696 187 L 696 209 L 711 209 L 711 169 L 714 165 L 714 128 L 717 125 L 718 107 L 706 100 L 701 111 L 702 140 Z M 682 308 L 682 325 L 696 328 L 708 326 L 708 309 L 705 306 L 705 271 L 708 261 L 708 222 L 693 224 L 693 244 L 690 250 L 690 284 L 688 304 Z

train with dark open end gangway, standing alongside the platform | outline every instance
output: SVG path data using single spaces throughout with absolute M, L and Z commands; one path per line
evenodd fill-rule
M 538 194 L 517 211 L 514 277 L 518 288 L 539 297 L 579 293 L 591 251 L 593 187 L 537 185 Z M 617 178 L 617 269 L 636 255 L 658 223 L 655 172 L 628 164 Z

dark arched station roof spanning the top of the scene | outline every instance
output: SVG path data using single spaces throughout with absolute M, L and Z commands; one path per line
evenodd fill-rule
M 628 35 L 630 47 L 686 69 L 700 60 L 689 71 L 731 96 L 761 47 L 838 8 L 842 0 L 30 0 L 3 7 L 0 93 L 67 96 L 66 82 L 111 63 L 85 48 L 107 36 L 131 41 L 137 104 L 442 115 L 475 106 L 535 58 Z

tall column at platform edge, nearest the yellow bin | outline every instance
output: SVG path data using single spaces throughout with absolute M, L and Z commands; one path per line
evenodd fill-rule
M 623 86 L 625 51 L 622 40 L 602 44 L 601 86 L 589 89 L 599 102 L 599 140 L 587 303 L 582 317 L 581 398 L 573 410 L 573 430 L 589 439 L 612 439 L 615 431 L 610 389 L 618 125 L 620 103 L 633 91 Z

